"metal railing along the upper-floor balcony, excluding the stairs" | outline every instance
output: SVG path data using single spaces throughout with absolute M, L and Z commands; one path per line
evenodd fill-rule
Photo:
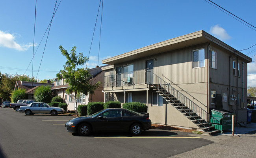
M 147 69 L 131 71 L 128 73 L 113 74 L 104 76 L 104 87 L 121 87 L 130 85 L 142 85 L 147 84 Z

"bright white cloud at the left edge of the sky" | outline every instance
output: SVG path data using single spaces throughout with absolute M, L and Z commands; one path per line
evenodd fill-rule
M 35 44 L 36 45 L 36 44 Z M 10 33 L 5 33 L 0 30 L 0 47 L 7 47 L 11 49 L 16 49 L 18 51 L 26 51 L 28 48 L 32 47 L 32 43 L 28 44 L 17 44 L 15 42 L 15 36 Z

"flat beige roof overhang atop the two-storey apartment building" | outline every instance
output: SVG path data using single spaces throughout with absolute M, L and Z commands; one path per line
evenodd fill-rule
M 240 56 L 246 62 L 252 62 L 252 59 L 246 56 L 245 54 L 237 51 L 236 49 L 222 42 L 221 40 L 218 40 L 217 38 L 201 30 L 201 31 L 197 31 L 187 35 L 172 38 L 170 40 L 159 42 L 156 44 L 148 45 L 146 47 L 136 49 L 128 53 L 120 54 L 120 55 L 102 60 L 102 64 L 115 65 L 122 62 L 143 58 L 145 56 L 151 56 L 159 53 L 169 52 L 176 49 L 182 49 L 185 47 L 204 44 L 204 43 L 215 43 L 223 47 L 224 49 L 227 49 L 228 51 L 236 54 L 237 56 Z

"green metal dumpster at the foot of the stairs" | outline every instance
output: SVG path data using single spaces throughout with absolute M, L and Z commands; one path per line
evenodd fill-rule
M 232 128 L 232 115 L 230 111 L 211 109 L 211 125 L 223 133 L 224 129 Z

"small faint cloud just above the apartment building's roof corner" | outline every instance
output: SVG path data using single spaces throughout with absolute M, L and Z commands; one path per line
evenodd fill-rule
M 219 25 L 212 26 L 210 33 L 218 38 L 219 40 L 229 40 L 231 36 L 228 35 L 227 31 Z

